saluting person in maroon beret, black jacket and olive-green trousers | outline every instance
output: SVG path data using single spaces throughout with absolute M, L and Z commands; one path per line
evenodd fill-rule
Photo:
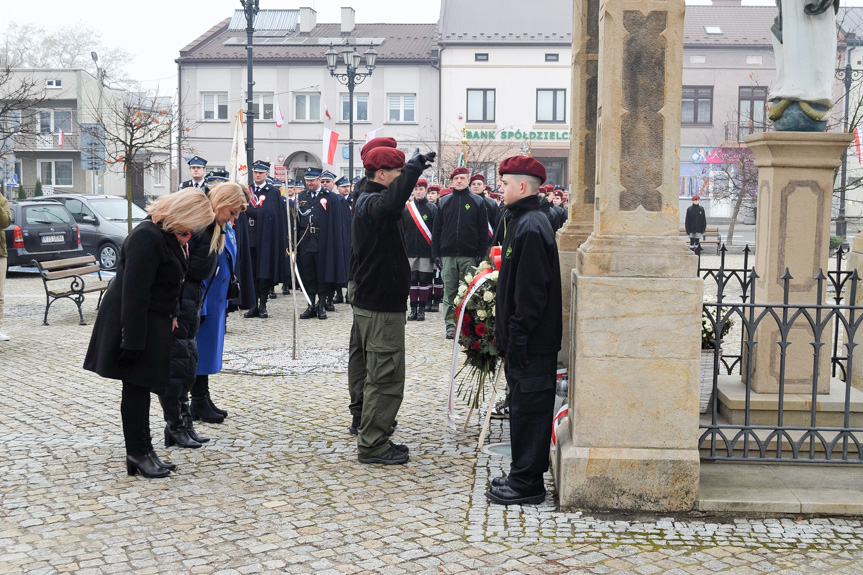
M 400 221 L 435 153 L 417 150 L 405 164 L 404 152 L 395 147 L 363 151 L 366 181 L 354 205 L 348 286 L 354 313 L 348 380 L 355 423 L 359 417 L 359 425 L 352 427 L 357 429 L 360 463 L 401 465 L 408 462 L 408 448 L 389 441 L 404 396 L 405 301 L 411 277 Z M 363 361 L 351 361 L 358 357 Z

